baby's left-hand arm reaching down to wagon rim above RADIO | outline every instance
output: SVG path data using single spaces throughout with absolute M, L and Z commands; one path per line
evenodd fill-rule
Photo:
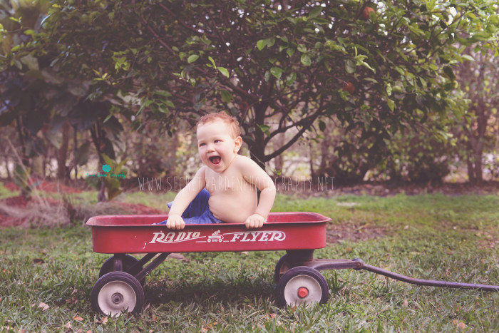
M 192 178 L 190 183 L 188 183 L 185 188 L 182 188 L 177 196 L 175 196 L 172 208 L 170 208 L 170 212 L 168 213 L 166 227 L 170 229 L 183 229 L 185 227 L 182 213 L 190 202 L 196 198 L 196 195 L 205 188 L 205 185 L 205 167 L 202 167 L 200 170 L 197 170 L 196 175 Z

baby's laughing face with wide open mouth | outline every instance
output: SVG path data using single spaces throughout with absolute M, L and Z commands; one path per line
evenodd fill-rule
M 202 163 L 217 173 L 225 171 L 241 148 L 242 139 L 234 138 L 225 121 L 197 126 L 197 150 Z

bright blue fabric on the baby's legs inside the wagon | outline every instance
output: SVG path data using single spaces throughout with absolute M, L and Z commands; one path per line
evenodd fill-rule
M 182 219 L 186 225 L 208 225 L 212 223 L 222 223 L 222 221 L 218 220 L 217 217 L 215 217 L 211 212 L 208 200 L 210 200 L 210 192 L 203 188 L 182 213 Z M 172 204 L 173 202 L 168 203 L 168 208 L 172 208 Z M 165 225 L 166 221 L 168 220 L 164 220 L 156 224 Z

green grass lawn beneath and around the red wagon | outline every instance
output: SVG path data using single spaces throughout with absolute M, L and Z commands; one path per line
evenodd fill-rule
M 171 198 L 125 193 L 120 200 L 157 207 Z M 388 232 L 376 240 L 329 245 L 315 257 L 360 257 L 412 277 L 499 285 L 498 207 L 498 196 L 278 195 L 274 211 L 321 212 L 331 223 Z M 92 252 L 91 230 L 0 232 L 0 331 L 68 332 L 68 325 L 74 332 L 456 332 L 458 325 L 466 332 L 499 330 L 499 293 L 416 287 L 364 271 L 323 271 L 331 288 L 327 304 L 279 308 L 272 277 L 284 252 L 274 251 L 166 260 L 146 278 L 141 314 L 105 320 L 93 313 L 90 292 L 108 256 Z M 41 302 L 48 309 L 39 308 Z

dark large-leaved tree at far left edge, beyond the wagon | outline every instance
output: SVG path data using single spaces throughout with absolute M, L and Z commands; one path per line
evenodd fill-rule
M 47 13 L 48 1 L 1 3 L 1 21 L 7 30 L 0 26 L 5 35 L 1 44 L 0 125 L 15 125 L 24 170 L 29 170 L 30 158 L 43 155 L 47 144 L 53 145 L 58 178 L 63 180 L 71 170 L 66 166 L 70 125 L 75 131 L 90 131 L 101 165 L 104 154 L 114 159 L 120 150 L 118 136 L 123 127 L 114 116 L 115 105 L 120 103 L 103 96 L 101 86 L 105 84 L 58 66 L 61 47 L 43 29 Z M 75 147 L 70 166 L 86 163 L 87 157 L 88 143 L 84 142 Z M 102 183 L 99 200 L 106 199 L 104 190 Z

